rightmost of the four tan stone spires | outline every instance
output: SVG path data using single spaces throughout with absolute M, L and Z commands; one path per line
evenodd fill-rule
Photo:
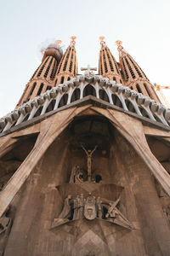
M 149 96 L 156 102 L 160 102 L 154 90 L 154 86 L 150 83 L 150 80 L 146 77 L 137 62 L 133 60 L 133 57 L 122 47 L 122 41 L 118 40 L 116 44 L 119 51 L 123 84 L 130 87 L 132 90 L 142 93 L 144 96 Z

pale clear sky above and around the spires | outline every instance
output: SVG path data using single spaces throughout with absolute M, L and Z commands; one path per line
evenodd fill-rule
M 152 83 L 170 85 L 169 0 L 0 0 L 0 117 L 14 110 L 39 65 L 44 42 L 77 36 L 80 68 L 98 67 L 99 36 L 118 61 L 115 41 Z M 164 90 L 170 102 L 170 90 Z

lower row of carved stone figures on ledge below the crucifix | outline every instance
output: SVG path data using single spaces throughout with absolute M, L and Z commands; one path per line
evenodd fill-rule
M 65 198 L 64 206 L 59 214 L 59 218 L 54 218 L 52 229 L 61 224 L 76 221 L 81 218 L 86 218 L 88 220 L 98 218 L 112 224 L 121 225 L 128 230 L 132 230 L 133 225 L 117 207 L 119 201 L 120 197 L 117 198 L 116 201 L 109 201 L 100 197 L 96 199 L 91 193 L 89 193 L 87 197 L 84 197 L 82 194 L 77 195 L 76 197 L 68 195 Z

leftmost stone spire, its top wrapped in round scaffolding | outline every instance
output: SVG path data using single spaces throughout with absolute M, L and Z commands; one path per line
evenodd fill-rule
M 61 41 L 57 40 L 54 44 L 48 45 L 48 48 L 43 53 L 42 63 L 37 67 L 28 84 L 26 84 L 26 89 L 20 97 L 16 108 L 54 86 L 57 67 L 59 67 L 59 61 L 63 55 L 63 51 L 59 46 L 60 43 Z

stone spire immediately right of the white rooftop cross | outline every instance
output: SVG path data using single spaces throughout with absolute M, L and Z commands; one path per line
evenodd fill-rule
M 107 47 L 104 37 L 99 37 L 101 49 L 99 51 L 99 74 L 104 78 L 115 80 L 117 83 L 122 84 L 122 77 L 119 67 L 111 50 Z

